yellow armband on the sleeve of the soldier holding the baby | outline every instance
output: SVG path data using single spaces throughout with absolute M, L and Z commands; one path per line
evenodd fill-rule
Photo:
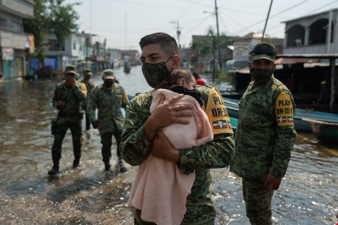
M 229 115 L 226 110 L 223 98 L 217 89 L 209 95 L 205 113 L 209 118 L 209 123 L 212 126 L 214 135 L 219 133 L 234 133 L 231 126 L 229 126 Z

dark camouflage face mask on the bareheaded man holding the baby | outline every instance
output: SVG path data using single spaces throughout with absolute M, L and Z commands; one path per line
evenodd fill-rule
M 171 60 L 171 58 L 173 58 L 173 56 L 165 62 L 155 64 L 147 62 L 142 63 L 142 73 L 149 86 L 153 88 L 157 87 L 170 75 L 165 63 Z

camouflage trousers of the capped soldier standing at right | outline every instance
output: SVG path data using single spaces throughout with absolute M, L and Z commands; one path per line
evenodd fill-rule
M 242 177 L 243 197 L 245 201 L 246 216 L 251 225 L 271 225 L 271 200 L 273 191 L 264 188 L 263 181 Z

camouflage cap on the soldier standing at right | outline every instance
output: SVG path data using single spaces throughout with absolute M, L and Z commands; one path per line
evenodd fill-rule
M 258 59 L 267 59 L 272 62 L 276 60 L 276 48 L 269 43 L 258 43 L 250 52 L 250 61 Z

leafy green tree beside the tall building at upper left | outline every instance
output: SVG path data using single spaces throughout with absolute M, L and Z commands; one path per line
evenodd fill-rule
M 76 28 L 79 18 L 73 9 L 80 3 L 65 4 L 65 0 L 34 0 L 34 18 L 24 20 L 24 31 L 34 35 L 35 53 L 32 57 L 44 58 L 45 35 L 55 34 L 57 41 L 65 46 L 65 39 Z

